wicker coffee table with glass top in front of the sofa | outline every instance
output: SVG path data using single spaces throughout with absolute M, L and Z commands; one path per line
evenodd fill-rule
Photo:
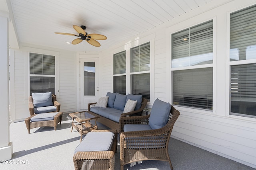
M 92 131 L 97 130 L 97 119 L 100 118 L 98 116 L 94 116 L 90 114 L 90 111 L 78 111 L 75 113 L 69 113 L 69 115 L 73 118 L 72 120 L 72 129 L 73 127 L 80 133 L 80 142 L 82 141 L 82 135 Z M 76 121 L 74 121 L 76 120 Z M 95 125 L 93 125 L 90 121 L 95 120 Z

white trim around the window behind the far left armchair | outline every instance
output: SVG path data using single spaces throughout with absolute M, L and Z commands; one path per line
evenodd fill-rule
M 29 54 L 30 53 L 37 53 L 37 54 L 43 54 L 43 55 L 53 55 L 55 56 L 55 94 L 56 96 L 59 96 L 59 56 L 60 53 L 56 51 L 48 51 L 43 49 L 34 49 L 30 47 L 24 47 L 24 50 L 28 51 L 28 88 L 27 88 L 27 95 L 30 96 L 30 63 L 29 63 Z M 38 76 L 38 75 L 36 75 Z M 47 75 L 45 75 L 47 76 Z

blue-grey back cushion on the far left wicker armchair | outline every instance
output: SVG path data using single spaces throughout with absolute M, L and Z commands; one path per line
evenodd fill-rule
M 32 93 L 34 107 L 53 106 L 52 92 Z

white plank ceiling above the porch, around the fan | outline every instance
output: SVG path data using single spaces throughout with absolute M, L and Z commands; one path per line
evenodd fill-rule
M 70 51 L 102 51 L 144 33 L 212 0 L 10 0 L 21 43 Z M 54 32 L 77 32 L 72 25 L 85 25 L 87 33 L 108 37 L 100 47 L 77 37 Z

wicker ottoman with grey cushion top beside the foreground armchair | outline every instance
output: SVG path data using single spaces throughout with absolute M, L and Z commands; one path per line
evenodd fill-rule
M 109 136 L 107 139 L 104 139 L 104 136 L 109 135 L 109 132 L 112 132 L 112 134 L 114 133 L 111 137 L 112 139 L 110 139 Z M 100 144 L 100 141 L 96 142 L 96 140 L 100 140 L 111 145 L 109 149 L 106 150 L 103 149 L 104 146 Z M 88 147 L 89 145 L 91 145 L 91 147 Z M 99 149 L 97 149 L 98 147 Z M 75 149 L 75 154 L 73 156 L 75 170 L 114 170 L 114 154 L 116 153 L 116 147 L 117 130 L 93 130 L 89 132 Z

